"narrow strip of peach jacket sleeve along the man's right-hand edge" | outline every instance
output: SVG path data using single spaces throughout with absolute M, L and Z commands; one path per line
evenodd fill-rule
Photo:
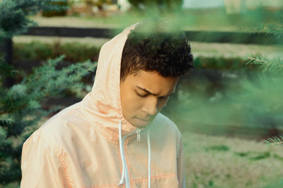
M 180 140 L 180 150 L 179 155 L 177 157 L 177 167 L 178 167 L 178 181 L 179 187 L 178 188 L 185 188 L 185 157 L 184 157 L 184 148 L 183 148 L 183 141 Z

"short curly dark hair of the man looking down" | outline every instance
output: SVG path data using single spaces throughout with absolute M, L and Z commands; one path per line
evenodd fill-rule
M 178 32 L 140 32 L 146 24 L 132 30 L 122 52 L 120 80 L 138 70 L 156 71 L 163 77 L 179 77 L 194 68 L 185 34 Z

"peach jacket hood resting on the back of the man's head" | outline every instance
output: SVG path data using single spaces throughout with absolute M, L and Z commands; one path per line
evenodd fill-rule
M 81 110 L 87 121 L 91 126 L 99 126 L 110 140 L 116 141 L 119 138 L 120 122 L 122 122 L 122 135 L 137 129 L 122 115 L 120 99 L 122 51 L 129 32 L 137 24 L 125 28 L 122 33 L 102 46 L 93 88 L 81 101 Z

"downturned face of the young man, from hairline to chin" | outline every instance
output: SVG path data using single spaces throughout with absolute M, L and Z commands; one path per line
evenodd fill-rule
M 120 83 L 122 113 L 137 128 L 147 126 L 175 92 L 179 77 L 162 77 L 158 72 L 139 70 Z

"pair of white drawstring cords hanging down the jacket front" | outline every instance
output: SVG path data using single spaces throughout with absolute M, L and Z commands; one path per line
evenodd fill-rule
M 137 139 L 138 141 L 140 138 Z M 125 179 L 125 156 L 124 156 L 124 148 L 122 145 L 122 121 L 119 122 L 119 144 L 120 144 L 120 155 L 122 159 L 122 177 L 120 179 L 120 182 L 117 185 L 123 184 Z M 147 131 L 147 148 L 149 149 L 149 162 L 148 162 L 148 169 L 149 169 L 149 188 L 151 187 L 151 143 L 150 143 L 150 136 L 149 136 L 149 130 Z

